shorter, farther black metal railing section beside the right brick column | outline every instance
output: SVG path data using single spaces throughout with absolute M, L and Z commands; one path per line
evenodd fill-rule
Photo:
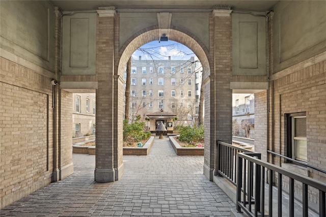
M 237 154 L 241 152 L 251 152 L 251 150 L 241 148 L 239 146 L 231 145 L 225 142 L 217 141 L 215 148 L 215 174 L 223 176 L 228 179 L 232 184 L 236 185 L 237 177 Z M 260 153 L 257 153 L 260 159 Z

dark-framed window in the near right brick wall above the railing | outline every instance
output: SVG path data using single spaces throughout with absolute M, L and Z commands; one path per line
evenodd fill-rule
M 306 112 L 288 114 L 288 156 L 307 162 L 307 118 Z

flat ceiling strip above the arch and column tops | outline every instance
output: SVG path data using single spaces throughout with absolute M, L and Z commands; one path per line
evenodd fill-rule
M 165 9 L 187 9 L 187 10 L 208 10 L 214 9 L 215 5 L 231 5 L 232 10 L 246 11 L 269 11 L 279 1 L 247 1 L 247 0 L 115 0 L 115 1 L 100 1 L 100 0 L 51 0 L 54 6 L 61 8 L 64 11 L 83 11 L 96 10 L 99 7 L 115 6 L 116 10 L 165 10 Z

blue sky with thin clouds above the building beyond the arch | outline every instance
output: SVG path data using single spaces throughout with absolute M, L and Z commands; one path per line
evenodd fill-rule
M 192 56 L 195 56 L 195 53 L 184 46 L 175 41 L 167 41 L 167 42 L 158 42 L 152 41 L 137 49 L 132 57 L 134 59 L 138 59 L 139 56 L 142 56 L 142 59 L 169 59 L 171 56 L 172 60 L 182 60 L 189 59 Z

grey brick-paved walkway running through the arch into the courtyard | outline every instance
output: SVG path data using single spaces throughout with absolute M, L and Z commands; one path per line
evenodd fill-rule
M 203 175 L 203 156 L 176 156 L 155 138 L 148 156 L 124 156 L 124 175 L 94 181 L 95 156 L 73 154 L 74 173 L 1 210 L 1 216 L 230 216 L 234 203 Z

